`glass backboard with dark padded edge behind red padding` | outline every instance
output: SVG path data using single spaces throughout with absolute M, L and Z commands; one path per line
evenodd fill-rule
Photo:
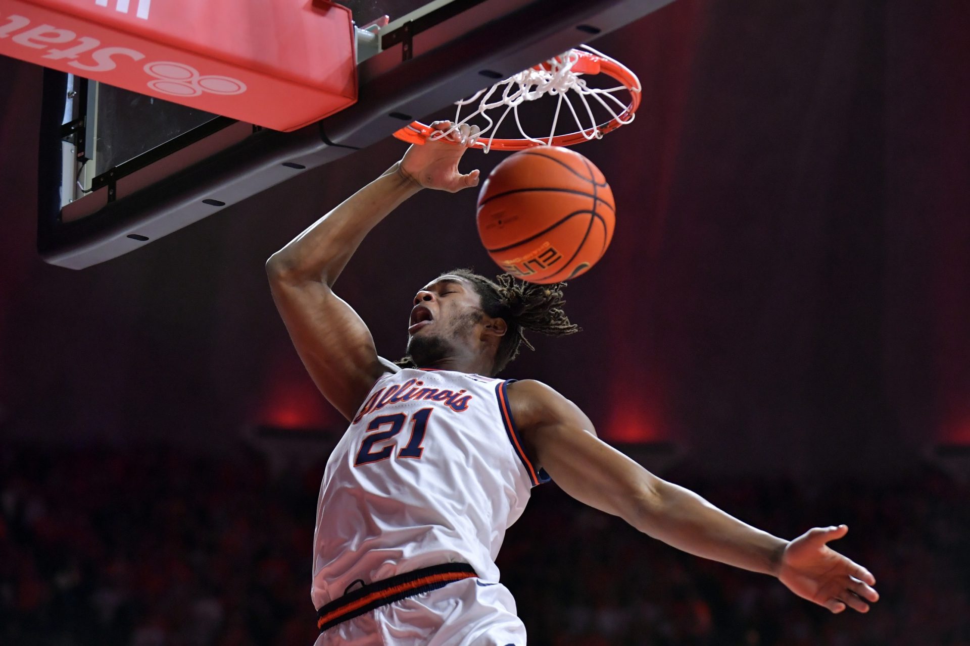
M 671 1 L 341 2 L 357 102 L 289 133 L 48 70 L 39 250 L 77 269 L 134 251 Z

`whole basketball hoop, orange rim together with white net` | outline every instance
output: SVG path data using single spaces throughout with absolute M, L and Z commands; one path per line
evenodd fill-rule
M 545 63 L 501 80 L 490 88 L 476 92 L 468 99 L 456 101 L 455 118 L 447 130 L 435 130 L 415 121 L 399 130 L 394 136 L 411 143 L 424 143 L 426 140 L 434 141 L 454 134 L 458 136 L 461 143 L 479 148 L 486 153 L 492 148 L 523 150 L 537 145 L 567 146 L 602 138 L 606 133 L 629 124 L 636 116 L 636 108 L 640 105 L 640 81 L 630 72 L 630 69 L 616 59 L 591 46 L 582 47 L 582 49 L 570 49 L 565 54 L 551 58 Z M 621 84 L 608 88 L 590 87 L 583 78 L 587 74 L 604 74 L 618 80 Z M 614 96 L 615 92 L 622 90 L 630 93 L 629 105 Z M 533 137 L 525 132 L 519 120 L 519 107 L 544 96 L 557 97 L 552 128 L 548 136 Z M 581 103 L 581 109 L 578 112 L 573 105 L 576 97 Z M 590 105 L 591 100 L 605 108 L 613 118 L 598 124 Z M 462 109 L 473 106 L 476 102 L 477 109 L 462 117 Z M 557 136 L 556 127 L 563 113 L 564 103 L 579 130 L 568 135 Z M 501 115 L 495 114 L 498 110 L 501 110 Z M 493 114 L 490 115 L 489 111 L 493 111 Z M 509 112 L 512 113 L 522 138 L 496 137 L 499 127 Z M 463 129 L 460 127 L 477 116 L 481 116 L 486 125 L 474 137 L 463 135 Z M 584 125 L 584 121 L 589 125 Z

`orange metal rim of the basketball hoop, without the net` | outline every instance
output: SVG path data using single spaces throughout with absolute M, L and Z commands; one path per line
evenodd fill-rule
M 637 85 L 639 85 L 637 78 L 632 75 L 630 70 L 626 69 L 612 58 L 604 58 L 580 49 L 573 49 L 573 51 L 579 54 L 580 60 L 576 67 L 581 72 L 595 72 L 598 68 L 599 74 L 604 74 L 607 77 L 612 77 L 613 79 L 623 83 L 623 85 L 630 91 L 630 105 L 627 106 L 627 108 L 623 110 L 623 112 L 621 112 L 616 118 L 610 119 L 606 123 L 598 125 L 597 130 L 599 134 L 605 135 L 606 133 L 616 130 L 620 126 L 629 123 L 630 117 L 632 117 L 633 113 L 636 112 L 636 108 L 640 107 L 640 92 L 639 90 L 634 89 Z M 540 63 L 539 65 L 545 66 L 546 64 Z M 420 145 L 427 141 L 434 132 L 436 131 L 431 126 L 421 123 L 420 121 L 412 121 L 409 125 L 404 126 L 404 128 L 394 133 L 394 136 L 402 141 Z M 551 141 L 549 141 L 548 138 L 545 138 L 545 140 L 541 142 L 534 141 L 533 139 L 522 138 L 481 138 L 475 141 L 469 147 L 478 149 L 489 148 L 497 150 L 525 150 L 526 148 L 533 148 L 534 146 L 546 145 L 547 141 L 549 145 L 571 146 L 577 143 L 582 143 L 583 141 L 591 140 L 590 138 L 587 138 L 583 132 L 584 131 L 580 130 L 574 133 L 569 133 L 568 135 L 559 135 L 552 138 Z

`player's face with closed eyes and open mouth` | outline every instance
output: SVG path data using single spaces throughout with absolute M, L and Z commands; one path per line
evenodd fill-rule
M 407 327 L 407 354 L 418 365 L 478 343 L 484 312 L 474 286 L 460 276 L 444 274 L 414 296 Z

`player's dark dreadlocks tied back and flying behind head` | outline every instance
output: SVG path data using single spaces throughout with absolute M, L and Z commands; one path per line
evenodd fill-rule
M 569 323 L 563 311 L 566 283 L 536 285 L 518 280 L 511 274 L 500 274 L 493 281 L 471 269 L 454 269 L 446 273 L 469 281 L 481 298 L 482 311 L 492 318 L 503 319 L 508 326 L 499 343 L 493 374 L 501 372 L 518 356 L 522 345 L 535 350 L 526 338 L 526 330 L 547 336 L 566 336 L 581 329 L 575 323 Z M 405 356 L 397 364 L 405 368 L 416 367 L 410 356 Z

